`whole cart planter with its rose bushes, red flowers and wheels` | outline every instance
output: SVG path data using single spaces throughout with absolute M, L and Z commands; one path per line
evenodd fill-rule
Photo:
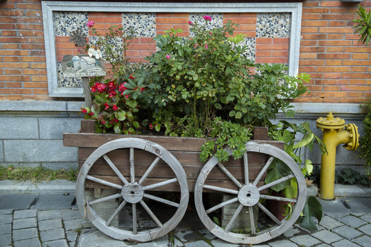
M 121 62 L 115 64 L 115 66 L 112 65 L 115 68 L 112 78 L 91 78 L 93 105 L 91 108 L 82 107 L 81 112 L 85 113 L 85 119 L 94 120 L 94 125 L 88 128 L 88 132 L 91 132 L 91 127 L 93 127 L 93 130 L 95 130 L 93 132 L 98 134 L 69 134 L 65 136 L 65 144 L 84 148 L 79 151 L 80 156 L 84 157 L 80 159 L 81 163 L 84 164 L 81 168 L 82 172 L 79 174 L 84 179 L 82 182 L 78 180 L 78 187 L 81 188 L 81 191 L 84 191 L 85 185 L 98 185 L 122 189 L 122 192 L 109 196 L 106 199 L 93 200 L 93 202 L 80 198 L 78 204 L 84 207 L 83 211 L 87 212 L 89 217 L 97 219 L 91 207 L 87 206 L 112 198 L 121 198 L 123 195 L 125 203 L 133 203 L 133 212 L 136 211 L 134 205 L 139 202 L 147 210 L 147 207 L 144 205 L 145 202 L 140 200 L 143 196 L 147 196 L 149 199 L 178 207 L 177 212 L 181 211 L 184 213 L 184 207 L 186 206 L 183 204 L 183 199 L 188 198 L 188 188 L 184 177 L 188 179 L 196 178 L 198 174 L 198 179 L 201 179 L 202 185 L 204 185 L 206 176 L 212 178 L 212 183 L 205 184 L 199 190 L 200 188 L 197 187 L 199 183 L 196 183 L 196 180 L 193 179 L 194 184 L 196 184 L 194 192 L 199 195 L 195 199 L 196 204 L 199 203 L 199 200 L 202 201 L 202 189 L 235 194 L 238 190 L 234 189 L 234 187 L 237 186 L 240 189 L 242 188 L 241 190 L 243 191 L 238 196 L 242 200 L 240 203 L 248 206 L 251 196 L 252 198 L 258 196 L 259 198 L 260 195 L 257 189 L 250 193 L 250 187 L 262 186 L 267 169 L 269 167 L 271 170 L 276 169 L 273 165 L 270 165 L 271 162 L 275 158 L 282 158 L 282 156 L 285 157 L 282 159 L 286 163 L 291 164 L 289 168 L 293 172 L 279 179 L 278 182 L 269 183 L 267 189 L 272 187 L 273 184 L 278 184 L 280 181 L 291 181 L 291 178 L 295 177 L 301 183 L 300 186 L 296 187 L 297 191 L 305 191 L 304 178 L 302 180 L 298 178 L 299 175 L 302 176 L 302 171 L 298 168 L 297 163 L 287 158 L 287 154 L 282 150 L 274 147 L 270 148 L 271 146 L 264 144 L 272 143 L 273 145 L 282 146 L 282 142 L 245 143 L 249 141 L 251 130 L 254 129 L 254 126 L 266 126 L 270 128 L 271 133 L 276 133 L 278 131 L 277 126 L 273 125 L 271 120 L 276 119 L 276 113 L 279 111 L 286 113 L 286 115 L 293 115 L 293 110 L 289 106 L 289 99 L 295 99 L 307 91 L 304 81 L 309 79 L 308 75 L 298 75 L 297 77 L 287 75 L 287 67 L 283 64 L 254 64 L 253 61 L 247 59 L 244 55 L 249 47 L 240 45 L 243 35 L 228 38 L 228 36 L 233 35 L 234 23 L 228 22 L 222 28 L 212 29 L 209 27 L 211 17 L 203 16 L 203 19 L 204 25 L 189 23 L 190 32 L 194 34 L 192 38 L 177 36 L 179 32 L 182 32 L 181 30 L 170 30 L 164 35 L 155 37 L 159 49 L 152 56 L 148 57 L 148 64 L 133 67 L 131 64 Z M 115 45 L 107 40 L 115 39 L 115 36 L 124 36 L 125 32 L 126 30 L 121 27 L 119 32 L 115 32 L 112 29 L 105 37 L 100 36 L 97 44 L 104 44 L 100 49 L 104 50 L 107 57 L 115 58 L 112 54 L 117 53 L 117 50 L 113 49 Z M 127 49 L 127 46 L 124 46 L 123 49 Z M 118 56 L 123 54 L 125 52 L 118 49 Z M 115 58 L 112 62 L 117 62 L 117 60 L 118 58 Z M 125 61 L 125 58 L 120 58 L 120 60 Z M 82 129 L 85 127 L 82 126 Z M 297 127 L 297 130 L 302 129 Z M 120 134 L 129 134 L 131 136 L 126 136 L 128 138 L 127 141 L 115 140 L 111 143 L 106 143 L 108 140 L 122 138 Z M 147 135 L 144 137 L 136 134 Z M 182 137 L 182 139 L 171 139 L 163 136 Z M 273 137 L 276 136 L 278 135 L 273 134 Z M 147 141 L 140 141 L 131 137 L 144 138 Z M 300 145 L 311 145 L 310 143 L 313 143 L 313 139 L 307 141 L 304 139 Z M 161 146 L 157 145 L 157 143 Z M 186 145 L 186 143 L 188 144 Z M 128 145 L 133 145 L 130 146 L 128 151 L 115 151 Z M 111 146 L 114 148 L 111 148 Z M 165 150 L 164 147 L 166 148 Z M 98 149 L 93 150 L 93 148 Z M 273 150 L 273 153 L 271 153 L 270 149 Z M 167 150 L 170 150 L 171 153 Z M 258 154 L 247 154 L 247 150 Z M 144 151 L 149 154 L 145 154 Z M 108 152 L 110 152 L 109 155 Z M 156 158 L 160 154 L 162 161 Z M 194 158 L 194 155 L 197 158 Z M 183 168 L 175 161 L 174 156 L 177 156 L 177 159 L 182 161 L 182 165 L 186 164 L 186 172 L 182 172 Z M 234 161 L 229 156 L 233 156 L 234 159 L 240 159 Z M 128 158 L 129 161 L 123 162 L 120 161 L 120 158 Z M 148 163 L 146 168 L 139 169 L 144 178 L 142 177 L 137 181 L 133 175 L 135 174 L 134 171 L 137 170 L 134 166 L 134 161 L 145 163 L 143 158 L 152 158 L 153 163 Z M 250 167 L 249 164 L 251 163 L 248 161 L 251 160 L 253 161 L 252 164 L 256 165 L 256 169 L 255 167 Z M 200 173 L 199 170 L 206 161 L 208 161 L 207 164 L 210 164 L 210 162 L 213 164 L 209 166 L 206 164 Z M 124 171 L 130 171 L 131 175 L 121 174 L 115 165 L 116 162 L 120 164 Z M 111 169 L 108 171 L 102 166 L 94 167 L 93 164 L 95 163 L 106 163 Z M 154 169 L 157 163 L 161 166 L 168 164 L 171 169 L 169 172 L 158 172 L 159 170 Z M 210 167 L 210 170 L 214 167 L 219 167 L 221 170 L 213 173 L 207 169 L 208 167 Z M 241 167 L 245 172 L 241 172 Z M 307 169 L 308 167 L 309 165 L 307 164 Z M 232 174 L 232 172 L 229 172 L 229 169 L 235 170 L 235 173 Z M 251 182 L 253 180 L 249 177 L 250 169 L 254 171 L 260 170 L 260 173 L 254 171 L 252 173 L 256 176 L 254 183 L 250 183 L 250 180 Z M 88 172 L 95 172 L 95 175 L 91 176 Z M 172 172 L 176 178 L 169 178 L 168 180 L 155 183 L 160 177 L 171 176 L 169 174 L 172 174 Z M 142 182 L 144 183 L 145 178 L 149 178 L 148 175 L 150 173 L 157 174 L 157 177 L 150 178 L 152 179 L 150 181 L 155 184 L 144 185 L 142 188 Z M 245 176 L 245 180 L 241 184 L 239 181 L 243 180 L 243 176 Z M 103 177 L 104 179 L 102 179 Z M 107 181 L 105 180 L 106 178 L 112 178 L 112 180 Z M 127 180 L 129 178 L 130 182 Z M 226 180 L 229 180 L 229 182 L 232 180 L 232 183 L 225 183 Z M 175 181 L 179 182 L 180 188 L 170 187 L 170 184 Z M 119 185 L 118 183 L 123 183 L 124 185 Z M 304 183 L 304 187 L 302 183 Z M 146 189 L 156 190 L 160 186 L 165 191 L 173 189 L 181 191 L 180 202 L 172 203 L 169 200 L 164 200 L 164 198 L 159 199 L 153 195 L 148 196 L 143 192 Z M 126 191 L 127 189 L 128 191 Z M 261 193 L 267 189 L 262 187 Z M 80 192 L 76 192 L 76 194 L 79 196 Z M 139 199 L 137 200 L 138 194 Z M 290 198 L 262 196 L 265 200 L 286 200 L 288 202 L 297 202 L 301 206 L 304 205 L 306 195 L 301 195 L 297 199 L 293 197 L 295 196 L 292 194 Z M 214 206 L 210 205 L 211 208 L 207 211 L 209 213 L 216 212 L 224 205 L 232 203 L 233 200 L 236 201 L 236 198 Z M 216 227 L 218 230 L 214 234 L 218 235 L 218 237 L 222 236 L 222 238 L 227 235 L 226 239 L 233 239 L 231 240 L 232 242 L 247 243 L 247 241 L 251 240 L 258 243 L 266 240 L 267 237 L 271 238 L 282 233 L 295 222 L 295 217 L 299 217 L 301 213 L 297 212 L 297 210 L 294 211 L 291 219 L 289 217 L 290 213 L 288 213 L 282 223 L 274 215 L 268 213 L 256 198 L 254 200 L 254 204 L 257 204 L 260 209 L 273 219 L 273 222 L 278 224 L 275 228 L 258 233 L 254 220 L 251 220 L 251 232 L 249 234 L 253 237 L 249 237 L 244 230 L 240 236 L 232 232 L 233 220 L 231 220 L 232 223 L 225 226 L 225 230 L 221 230 L 219 226 Z M 97 227 L 104 232 L 112 233 L 114 237 L 120 237 L 120 234 L 117 235 L 117 230 L 110 228 L 109 225 L 117 216 L 118 210 L 125 206 L 124 202 L 120 204 L 120 207 L 109 219 L 96 221 Z M 308 204 L 306 205 L 308 206 Z M 198 206 L 200 207 L 200 205 Z M 307 206 L 306 209 L 308 209 Z M 240 211 L 241 209 L 242 207 L 240 206 L 238 210 Z M 252 210 L 251 207 L 249 207 L 249 213 L 253 215 L 253 211 L 250 210 Z M 152 217 L 153 213 L 150 213 L 151 211 L 147 212 Z M 136 220 L 136 215 L 134 214 L 133 221 Z M 238 213 L 235 214 L 238 215 Z M 164 225 L 173 226 L 175 224 L 172 221 L 173 218 Z M 233 217 L 232 219 L 235 218 Z M 155 218 L 153 219 L 155 220 Z M 201 218 L 201 220 L 204 219 Z M 135 223 L 133 224 L 133 232 L 124 232 L 124 236 L 130 236 L 131 239 L 136 241 L 148 241 L 150 237 L 164 235 L 165 230 L 161 222 L 159 223 L 158 219 L 155 222 L 160 227 L 153 230 L 151 234 L 141 233 L 137 235 Z M 212 227 L 215 226 L 215 223 L 210 221 L 207 221 L 206 224 Z M 223 231 L 223 233 L 220 231 Z M 254 240 L 256 235 L 260 237 L 258 241 Z

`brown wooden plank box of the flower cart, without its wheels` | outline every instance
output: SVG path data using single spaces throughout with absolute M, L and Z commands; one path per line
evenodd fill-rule
M 148 141 L 153 141 L 168 150 L 178 161 L 181 163 L 183 169 L 186 172 L 188 180 L 188 188 L 190 191 L 194 191 L 194 184 L 196 182 L 197 176 L 203 167 L 203 163 L 199 160 L 200 147 L 203 145 L 205 139 L 194 138 L 194 137 L 161 137 L 161 136 L 146 136 L 146 135 L 125 135 L 125 134 L 95 134 L 95 123 L 93 120 L 82 120 L 81 129 L 79 133 L 63 134 L 63 145 L 78 147 L 78 162 L 79 167 L 86 161 L 89 155 L 99 148 L 104 143 L 109 141 L 135 137 L 139 139 L 146 139 Z M 280 149 L 284 149 L 284 143 L 281 141 L 269 141 L 267 135 L 267 128 L 256 128 L 254 131 L 254 141 L 259 143 L 269 143 L 275 145 Z M 130 164 L 129 152 L 128 150 L 115 150 L 110 152 L 109 157 L 111 161 L 117 166 L 120 171 L 129 171 Z M 135 161 L 135 176 L 140 177 L 146 172 L 150 163 L 155 159 L 154 154 L 145 152 L 142 150 L 135 151 L 134 161 Z M 256 178 L 262 165 L 267 162 L 268 156 L 266 154 L 251 153 L 248 154 L 249 159 L 249 176 L 250 178 Z M 225 167 L 236 176 L 238 180 L 243 181 L 243 159 L 234 160 L 230 158 L 228 162 L 223 163 Z M 102 178 L 103 180 L 121 184 L 120 179 L 115 175 L 111 167 L 106 165 L 103 158 L 98 159 L 95 165 L 90 169 L 89 174 L 97 178 Z M 125 176 L 125 175 L 124 175 Z M 125 176 L 130 179 L 129 176 Z M 160 179 L 164 178 L 174 178 L 172 170 L 166 163 L 159 161 L 156 169 L 154 169 L 150 176 L 146 179 L 145 185 L 150 185 L 153 183 L 158 183 Z M 262 176 L 261 181 L 265 179 Z M 208 181 L 210 185 L 224 187 L 228 189 L 234 189 L 235 185 L 231 180 L 220 170 L 213 169 L 213 171 L 208 176 Z M 106 187 L 99 183 L 94 183 L 92 181 L 87 181 L 87 188 L 101 188 L 106 189 Z M 159 191 L 178 191 L 179 187 L 176 185 L 166 185 L 153 190 Z

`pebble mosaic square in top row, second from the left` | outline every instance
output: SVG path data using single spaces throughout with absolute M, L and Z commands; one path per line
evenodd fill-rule
M 122 13 L 122 26 L 132 27 L 138 37 L 156 36 L 155 13 Z

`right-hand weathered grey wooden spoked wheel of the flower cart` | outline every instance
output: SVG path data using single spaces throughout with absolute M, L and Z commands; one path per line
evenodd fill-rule
M 194 200 L 196 204 L 196 210 L 201 221 L 203 222 L 203 224 L 205 224 L 206 228 L 211 233 L 227 242 L 231 242 L 234 244 L 259 244 L 269 239 L 273 239 L 278 235 L 281 235 L 295 223 L 304 208 L 304 203 L 306 200 L 306 183 L 298 165 L 295 163 L 295 161 L 293 161 L 289 154 L 286 154 L 286 152 L 284 152 L 283 150 L 280 150 L 273 145 L 269 145 L 266 143 L 256 143 L 254 141 L 247 142 L 245 144 L 245 148 L 247 151 L 245 151 L 245 154 L 243 156 L 243 167 L 241 169 L 244 171 L 241 175 L 244 178 L 240 181 L 236 179 L 236 177 L 231 174 L 222 163 L 219 163 L 214 156 L 203 166 L 203 169 L 201 170 L 199 177 L 196 180 L 196 186 L 194 189 Z M 230 150 L 228 150 L 228 152 L 229 155 L 232 154 Z M 258 176 L 256 176 L 256 178 L 252 178 L 251 176 L 249 176 L 249 161 L 247 159 L 247 152 L 262 153 L 269 156 L 267 163 L 265 163 L 262 169 L 260 169 L 260 172 L 258 173 Z M 292 174 L 280 178 L 267 185 L 260 185 L 260 183 L 258 184 L 259 180 L 262 178 L 265 172 L 267 172 L 267 169 L 274 158 L 278 158 L 280 161 L 285 163 L 289 167 L 289 169 L 291 169 Z M 212 169 L 219 168 L 232 181 L 231 183 L 233 183 L 237 189 L 229 189 L 207 184 L 207 176 L 210 174 L 210 172 L 212 172 Z M 267 193 L 262 193 L 262 191 L 264 190 L 267 191 L 267 188 L 283 183 L 284 181 L 290 180 L 291 178 L 295 178 L 297 181 L 296 199 L 289 199 L 281 196 L 269 196 L 267 195 Z M 232 195 L 233 198 L 230 200 L 226 200 L 225 202 L 221 202 L 220 204 L 216 204 L 214 207 L 208 208 L 210 207 L 208 206 L 205 208 L 202 195 L 203 191 L 205 190 L 229 194 Z M 273 200 L 274 202 L 291 202 L 291 204 L 293 205 L 291 217 L 286 216 L 284 220 L 278 220 L 278 218 L 261 203 L 263 200 Z M 232 203 L 238 204 L 238 208 L 234 212 L 231 220 L 229 220 L 225 228 L 222 228 L 211 219 L 210 213 Z M 257 224 L 255 224 L 254 222 L 253 207 L 256 206 L 260 211 L 260 213 L 258 214 L 257 224 L 259 224 L 259 220 L 263 219 L 265 219 L 266 222 L 267 220 L 271 222 L 271 224 L 269 225 L 265 224 L 264 229 L 260 228 L 262 227 L 262 224 L 259 224 L 259 228 L 257 228 Z M 249 213 L 249 228 L 251 230 L 249 233 L 240 233 L 238 231 L 238 233 L 236 233 L 236 231 L 232 232 L 232 225 L 234 224 L 234 221 L 236 221 L 236 218 L 243 208 L 248 209 L 245 211 L 248 211 Z

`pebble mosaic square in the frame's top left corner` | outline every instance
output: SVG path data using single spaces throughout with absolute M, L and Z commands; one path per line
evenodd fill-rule
M 53 12 L 54 35 L 69 36 L 71 32 L 80 29 L 88 36 L 87 12 Z

